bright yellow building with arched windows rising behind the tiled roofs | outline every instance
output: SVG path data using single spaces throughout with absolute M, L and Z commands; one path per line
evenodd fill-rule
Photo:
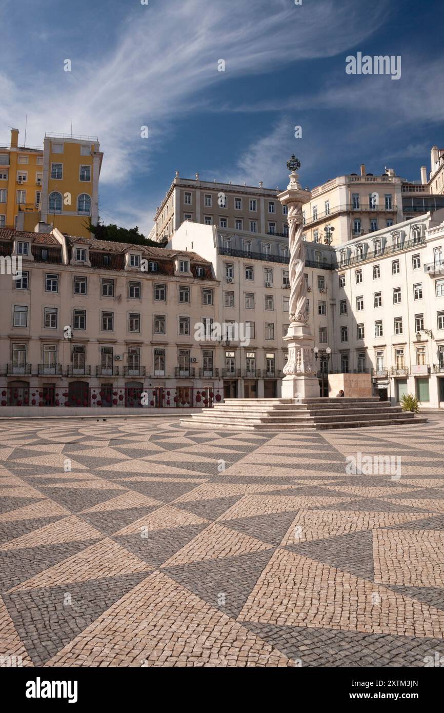
M 97 137 L 46 133 L 43 149 L 0 145 L 0 227 L 34 230 L 46 222 L 89 237 L 98 221 L 98 178 L 103 153 Z

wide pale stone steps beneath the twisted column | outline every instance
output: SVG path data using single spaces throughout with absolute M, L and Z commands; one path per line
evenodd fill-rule
M 378 396 L 312 399 L 225 399 L 212 409 L 181 419 L 182 426 L 234 431 L 356 429 L 425 424 L 424 416 L 402 411 Z

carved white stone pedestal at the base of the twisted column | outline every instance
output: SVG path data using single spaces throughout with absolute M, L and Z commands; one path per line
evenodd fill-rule
M 314 338 L 304 322 L 291 322 L 284 337 L 289 358 L 284 366 L 282 399 L 319 398 L 319 379 L 314 364 Z

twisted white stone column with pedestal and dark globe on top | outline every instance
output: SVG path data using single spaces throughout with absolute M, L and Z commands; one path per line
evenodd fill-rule
M 309 190 L 303 190 L 296 170 L 301 163 L 294 155 L 287 161 L 291 171 L 290 183 L 277 196 L 282 205 L 288 206 L 289 224 L 289 313 L 290 325 L 284 342 L 289 347 L 288 361 L 284 366 L 282 397 L 284 399 L 305 399 L 319 397 L 319 381 L 314 369 L 314 337 L 307 324 L 306 312 L 305 248 L 302 240 L 302 205 L 311 198 Z

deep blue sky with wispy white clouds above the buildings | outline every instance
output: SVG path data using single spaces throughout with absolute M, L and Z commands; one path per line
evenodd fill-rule
M 145 232 L 175 170 L 283 188 L 295 153 L 310 188 L 360 163 L 418 180 L 444 146 L 443 20 L 443 0 L 1 0 L 0 143 L 72 119 L 105 153 L 100 216 Z M 401 55 L 401 79 L 347 75 L 358 51 Z

